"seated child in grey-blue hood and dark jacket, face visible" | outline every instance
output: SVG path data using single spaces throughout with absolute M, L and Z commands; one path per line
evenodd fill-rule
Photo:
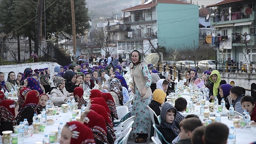
M 176 115 L 177 110 L 174 108 L 174 106 L 168 103 L 162 104 L 162 110 L 160 114 L 161 123 L 158 126 L 158 130 L 163 134 L 165 140 L 170 144 L 172 143 L 172 140 L 174 140 L 174 138 L 176 138 L 180 133 L 180 130 L 174 123 Z M 162 143 L 166 144 L 164 140 L 162 140 Z

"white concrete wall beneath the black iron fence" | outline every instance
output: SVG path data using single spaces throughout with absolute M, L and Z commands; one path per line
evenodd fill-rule
M 56 62 L 36 62 L 36 63 L 27 63 L 27 64 L 15 64 L 15 65 L 5 65 L 0 66 L 0 72 L 4 72 L 5 81 L 7 80 L 8 73 L 10 71 L 15 72 L 16 77 L 19 72 L 24 72 L 25 68 L 40 69 L 40 68 L 50 68 L 51 74 L 54 72 L 54 67 L 60 66 Z

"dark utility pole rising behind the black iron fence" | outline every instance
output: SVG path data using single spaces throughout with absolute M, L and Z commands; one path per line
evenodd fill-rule
M 37 29 L 36 29 L 36 42 L 35 42 L 35 53 L 37 55 L 38 55 L 38 52 L 39 52 L 40 25 L 42 24 L 42 6 L 43 6 L 43 0 L 39 0 L 38 17 L 37 17 Z

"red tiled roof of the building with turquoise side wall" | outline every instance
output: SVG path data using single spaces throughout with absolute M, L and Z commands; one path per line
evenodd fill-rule
M 130 12 L 130 11 L 134 11 L 134 10 L 144 10 L 144 9 L 153 8 L 156 6 L 156 2 L 157 3 L 165 3 L 165 4 L 189 4 L 189 3 L 180 2 L 177 0 L 153 0 L 149 4 L 141 4 L 141 5 L 137 5 L 134 7 L 126 8 L 126 9 L 122 10 L 122 12 Z

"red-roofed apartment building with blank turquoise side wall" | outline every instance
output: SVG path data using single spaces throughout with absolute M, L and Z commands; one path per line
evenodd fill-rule
M 130 30 L 118 44 L 150 53 L 152 46 L 191 48 L 198 46 L 198 5 L 176 0 L 148 0 L 144 4 L 122 10 L 124 24 Z M 150 41 L 149 41 L 150 40 Z

